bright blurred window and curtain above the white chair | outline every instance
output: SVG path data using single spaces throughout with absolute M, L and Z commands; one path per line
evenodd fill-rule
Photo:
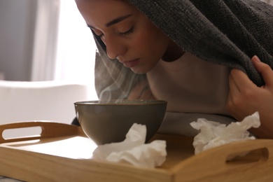
M 0 0 L 0 78 L 92 84 L 95 51 L 73 0 Z

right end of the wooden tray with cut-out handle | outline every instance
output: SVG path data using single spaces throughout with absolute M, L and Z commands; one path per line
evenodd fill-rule
M 249 153 L 241 158 L 229 161 L 230 156 L 241 153 Z M 249 169 L 255 165 L 266 165 L 273 158 L 273 140 L 255 139 L 247 141 L 236 141 L 207 151 L 193 155 L 187 160 L 174 167 L 177 178 L 183 179 L 185 169 L 194 169 L 193 176 L 213 176 L 227 172 L 238 172 Z

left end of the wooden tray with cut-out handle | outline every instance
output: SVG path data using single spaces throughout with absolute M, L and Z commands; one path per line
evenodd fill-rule
M 29 127 L 41 127 L 41 134 L 26 136 L 26 137 L 16 137 L 11 139 L 4 139 L 3 132 L 5 130 L 13 130 L 13 129 L 22 129 Z M 75 125 L 68 125 L 64 123 L 54 123 L 50 121 L 27 121 L 20 123 L 8 123 L 5 125 L 0 125 L 0 144 L 7 142 L 15 142 L 15 141 L 27 141 L 33 139 L 45 139 L 52 137 L 66 137 L 66 136 L 83 136 L 83 130 L 81 127 Z

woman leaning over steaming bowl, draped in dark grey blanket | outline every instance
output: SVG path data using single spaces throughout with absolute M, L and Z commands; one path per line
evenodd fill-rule
M 273 138 L 273 7 L 260 0 L 76 0 L 99 49 L 99 99 L 167 100 L 159 132 L 259 111 Z M 262 60 L 260 62 L 260 59 Z M 251 59 L 252 58 L 252 59 Z

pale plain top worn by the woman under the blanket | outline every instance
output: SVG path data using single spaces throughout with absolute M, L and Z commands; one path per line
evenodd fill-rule
M 196 131 L 191 129 L 189 123 L 197 118 L 220 123 L 233 121 L 229 117 L 223 117 L 228 116 L 225 103 L 229 90 L 229 73 L 227 66 L 205 62 L 189 52 L 174 62 L 160 60 L 147 73 L 153 96 L 168 102 L 169 113 L 162 125 L 163 131 L 160 131 L 193 135 Z M 179 126 L 174 124 L 177 120 Z

